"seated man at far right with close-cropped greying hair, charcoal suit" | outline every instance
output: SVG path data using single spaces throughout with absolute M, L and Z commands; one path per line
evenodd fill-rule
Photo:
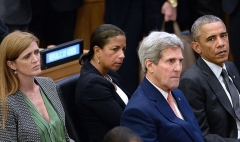
M 221 75 L 225 69 L 237 90 L 240 89 L 238 70 L 227 61 L 226 27 L 220 18 L 205 15 L 195 21 L 191 32 L 192 48 L 200 57 L 185 71 L 178 88 L 191 105 L 206 142 L 239 142 L 240 122 L 234 113 L 233 94 Z M 239 103 L 239 93 L 235 95 Z

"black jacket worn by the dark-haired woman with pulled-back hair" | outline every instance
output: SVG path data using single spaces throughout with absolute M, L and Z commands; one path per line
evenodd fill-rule
M 124 91 L 119 83 L 119 76 L 113 71 L 108 74 Z M 113 84 L 89 61 L 82 66 L 75 97 L 78 115 L 88 132 L 90 142 L 103 140 L 110 129 L 120 125 L 120 117 L 126 105 L 116 93 Z

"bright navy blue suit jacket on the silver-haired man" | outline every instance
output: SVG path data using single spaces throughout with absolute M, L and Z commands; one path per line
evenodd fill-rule
M 172 95 L 185 120 L 174 114 L 163 95 L 144 78 L 122 114 L 121 125 L 132 129 L 144 142 L 203 142 L 183 93 L 174 89 Z

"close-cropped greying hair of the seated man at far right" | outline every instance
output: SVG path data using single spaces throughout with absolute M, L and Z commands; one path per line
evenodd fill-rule
M 209 23 L 215 23 L 215 22 L 222 22 L 222 24 L 224 25 L 224 27 L 226 28 L 224 22 L 214 16 L 214 15 L 204 15 L 200 18 L 198 18 L 192 25 L 191 28 L 191 34 L 192 34 L 192 38 L 194 41 L 197 41 L 198 37 L 201 35 L 201 30 L 200 28 L 205 25 L 205 24 L 209 24 Z

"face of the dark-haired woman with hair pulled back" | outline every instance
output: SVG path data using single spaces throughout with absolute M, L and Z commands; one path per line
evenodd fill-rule
M 109 42 L 100 50 L 100 66 L 108 71 L 117 71 L 125 58 L 126 37 L 118 35 L 108 40 Z

